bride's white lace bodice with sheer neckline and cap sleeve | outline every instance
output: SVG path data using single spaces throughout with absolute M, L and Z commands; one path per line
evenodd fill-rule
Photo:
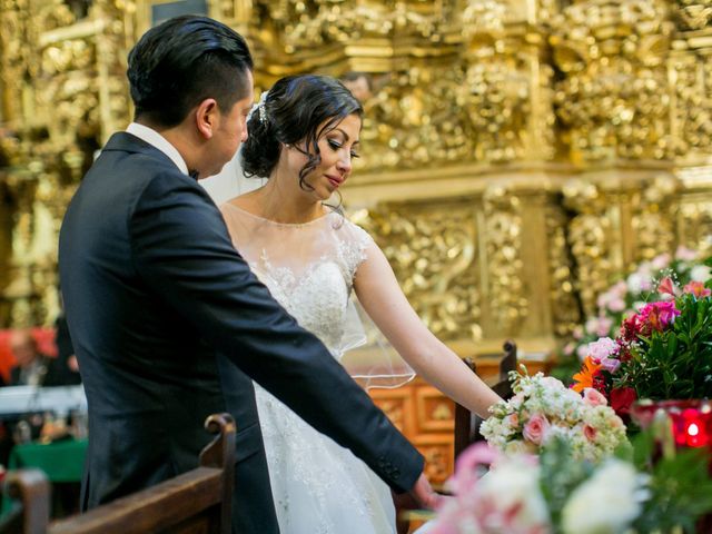
M 340 358 L 353 344 L 348 299 L 370 236 L 336 212 L 284 225 L 230 204 L 221 210 L 253 271 L 299 325 Z

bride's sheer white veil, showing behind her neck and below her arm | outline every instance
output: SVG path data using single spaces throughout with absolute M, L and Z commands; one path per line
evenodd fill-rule
M 257 189 L 266 179 L 247 178 L 240 164 L 241 149 L 222 170 L 198 184 L 205 187 L 216 205 Z M 344 335 L 339 347 L 340 363 L 364 388 L 395 388 L 415 377 L 413 368 L 393 348 L 352 294 L 346 309 Z

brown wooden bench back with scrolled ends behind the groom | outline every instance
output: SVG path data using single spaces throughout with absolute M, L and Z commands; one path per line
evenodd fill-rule
M 200 453 L 199 466 L 156 486 L 49 524 L 49 484 L 37 469 L 8 473 L 12 510 L 0 534 L 229 534 L 235 481 L 235 422 L 211 415 L 217 434 Z

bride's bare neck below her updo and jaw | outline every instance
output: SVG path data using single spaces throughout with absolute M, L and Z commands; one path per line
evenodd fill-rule
M 261 216 L 275 222 L 304 224 L 324 215 L 322 202 L 301 189 L 297 179 L 277 172 L 255 191 L 255 201 Z

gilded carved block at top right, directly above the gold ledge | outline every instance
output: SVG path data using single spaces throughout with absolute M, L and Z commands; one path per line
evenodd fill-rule
M 662 0 L 582 1 L 554 18 L 550 42 L 566 75 L 555 105 L 574 161 L 672 156 L 672 29 Z

